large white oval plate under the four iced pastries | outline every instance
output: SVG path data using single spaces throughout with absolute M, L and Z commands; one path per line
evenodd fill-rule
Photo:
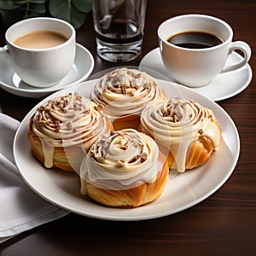
M 96 80 L 90 80 L 70 89 L 56 92 L 44 99 L 43 102 L 55 96 L 66 95 L 70 91 L 78 91 L 80 95 L 89 96 Z M 218 151 L 212 154 L 210 160 L 192 171 L 170 177 L 163 195 L 157 201 L 135 209 L 116 209 L 96 204 L 79 193 L 79 177 L 77 174 L 47 170 L 38 160 L 32 157 L 30 144 L 26 137 L 29 119 L 40 102 L 28 113 L 20 124 L 15 135 L 15 162 L 24 178 L 38 195 L 45 200 L 84 216 L 110 220 L 135 221 L 150 218 L 160 218 L 194 206 L 205 200 L 219 189 L 233 172 L 240 152 L 240 140 L 230 116 L 215 102 L 201 96 L 195 90 L 190 90 L 171 82 L 160 80 L 160 85 L 168 96 L 183 96 L 193 99 L 203 106 L 211 108 L 219 120 L 223 131 L 223 139 Z

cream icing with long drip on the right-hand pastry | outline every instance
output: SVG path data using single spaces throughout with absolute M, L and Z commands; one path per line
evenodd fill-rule
M 146 107 L 141 122 L 148 134 L 170 149 L 178 172 L 185 171 L 186 154 L 193 141 L 208 137 L 216 150 L 221 137 L 210 109 L 180 98 Z

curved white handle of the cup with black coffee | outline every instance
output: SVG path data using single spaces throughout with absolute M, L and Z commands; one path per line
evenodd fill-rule
M 242 60 L 236 64 L 225 66 L 224 69 L 221 71 L 221 73 L 230 72 L 240 67 L 243 67 L 250 60 L 252 51 L 250 46 L 247 43 L 243 41 L 232 42 L 229 49 L 229 55 L 235 50 L 241 50 L 243 54 Z

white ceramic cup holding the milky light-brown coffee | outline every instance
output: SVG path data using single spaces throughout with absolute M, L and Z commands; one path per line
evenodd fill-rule
M 14 44 L 20 36 L 36 31 L 58 32 L 67 38 L 63 44 L 50 48 L 29 49 Z M 5 33 L 6 46 L 0 52 L 7 55 L 20 79 L 34 87 L 49 87 L 63 79 L 75 58 L 76 32 L 64 20 L 31 18 L 10 26 Z

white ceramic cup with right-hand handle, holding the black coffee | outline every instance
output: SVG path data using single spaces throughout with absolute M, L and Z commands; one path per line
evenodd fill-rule
M 205 49 L 183 48 L 167 41 L 181 32 L 207 32 L 223 42 Z M 251 57 L 249 45 L 232 42 L 233 31 L 224 20 L 208 15 L 180 15 L 164 21 L 158 28 L 160 55 L 166 70 L 179 84 L 200 87 L 209 84 L 219 73 L 234 71 L 247 64 Z M 225 65 L 228 55 L 241 50 L 239 63 Z M 228 81 L 227 81 L 228 83 Z

